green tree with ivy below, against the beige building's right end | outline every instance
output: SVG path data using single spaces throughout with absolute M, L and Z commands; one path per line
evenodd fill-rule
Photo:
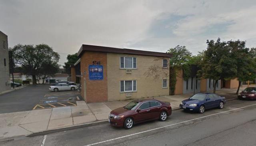
M 186 46 L 180 45 L 170 48 L 166 53 L 172 54 L 172 57 L 170 58 L 169 94 L 174 95 L 177 80 L 176 76 L 180 76 L 178 74 L 178 70 L 182 69 L 182 66 L 191 58 L 192 53 L 186 48 Z

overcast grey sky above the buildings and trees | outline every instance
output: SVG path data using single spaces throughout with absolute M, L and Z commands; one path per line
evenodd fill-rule
M 60 64 L 82 44 L 197 54 L 218 37 L 256 47 L 256 1 L 0 0 L 0 30 L 9 47 L 48 44 Z

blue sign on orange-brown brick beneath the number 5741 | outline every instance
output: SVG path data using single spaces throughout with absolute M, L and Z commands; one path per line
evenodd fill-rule
M 102 65 L 89 65 L 89 80 L 103 80 Z

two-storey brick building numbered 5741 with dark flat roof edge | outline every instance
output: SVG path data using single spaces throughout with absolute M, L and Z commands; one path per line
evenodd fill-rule
M 86 102 L 169 95 L 171 54 L 83 44 L 78 56 L 71 79 Z

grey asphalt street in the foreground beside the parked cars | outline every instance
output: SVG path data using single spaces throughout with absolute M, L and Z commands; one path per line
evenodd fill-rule
M 196 146 L 256 145 L 256 101 L 231 100 L 224 109 L 204 114 L 176 110 L 132 129 L 99 124 L 47 135 L 15 139 L 1 146 Z

